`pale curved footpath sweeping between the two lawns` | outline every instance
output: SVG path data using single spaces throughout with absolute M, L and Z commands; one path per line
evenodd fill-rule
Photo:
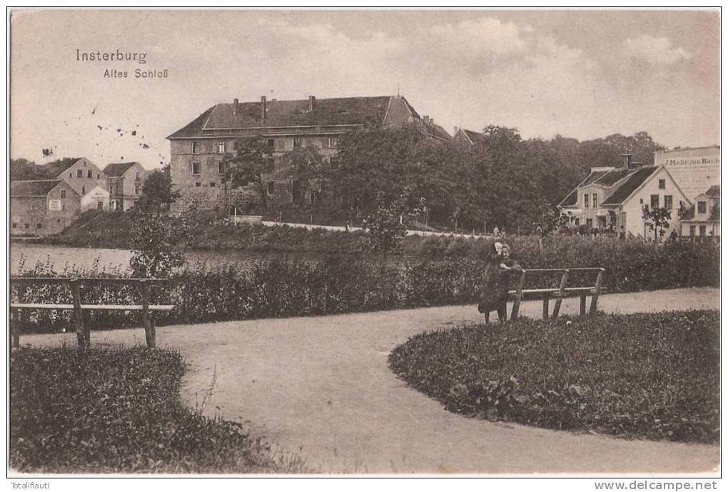
M 577 313 L 565 300 L 562 313 Z M 720 308 L 718 289 L 606 294 L 600 308 L 633 313 Z M 541 315 L 541 302 L 521 313 Z M 311 318 L 231 321 L 157 329 L 159 347 L 191 365 L 183 398 L 205 415 L 246 421 L 333 473 L 715 472 L 718 446 L 620 440 L 456 415 L 387 366 L 415 333 L 479 321 L 472 305 Z M 143 330 L 92 332 L 93 344 L 143 343 Z M 73 334 L 28 335 L 46 345 Z

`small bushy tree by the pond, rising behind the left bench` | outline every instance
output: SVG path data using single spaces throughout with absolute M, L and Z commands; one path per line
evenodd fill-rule
M 184 265 L 181 242 L 188 234 L 185 219 L 169 220 L 132 211 L 130 268 L 138 277 L 162 278 Z

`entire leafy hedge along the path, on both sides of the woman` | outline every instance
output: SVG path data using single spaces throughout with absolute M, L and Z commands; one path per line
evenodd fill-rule
M 604 248 L 600 247 L 604 246 Z M 630 254 L 630 247 L 636 251 Z M 604 265 L 604 287 L 609 292 L 633 292 L 688 286 L 719 286 L 717 251 L 705 246 L 674 244 L 644 249 L 633 243 L 598 243 L 585 257 L 545 255 L 542 262 L 527 267 L 571 267 Z M 585 250 L 585 254 L 589 250 Z M 601 255 L 601 256 L 600 256 Z M 169 289 L 154 291 L 154 301 L 175 304 L 162 323 L 195 323 L 285 316 L 381 311 L 435 305 L 475 303 L 481 295 L 486 262 L 479 259 L 393 262 L 358 257 L 324 259 L 274 258 L 248 262 L 245 267 L 228 265 L 216 269 L 188 269 L 175 273 Z M 51 264 L 21 269 L 20 276 L 56 276 Z M 123 276 L 117 272 L 64 271 L 64 276 Z M 588 278 L 587 278 L 588 277 Z M 570 285 L 588 285 L 594 273 L 574 275 Z M 558 276 L 535 277 L 528 286 L 556 286 Z M 12 296 L 17 299 L 17 288 Z M 84 302 L 138 303 L 138 292 L 123 286 L 90 286 L 82 292 Z M 33 286 L 24 301 L 71 302 L 67 286 Z M 119 319 L 118 313 L 92 312 L 95 327 L 138 324 L 133 315 Z M 71 313 L 33 313 L 31 326 L 66 327 Z

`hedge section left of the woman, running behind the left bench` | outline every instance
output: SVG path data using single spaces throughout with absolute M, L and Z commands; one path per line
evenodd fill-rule
M 153 289 L 151 302 L 173 303 L 159 322 L 195 323 L 331 313 L 380 311 L 428 305 L 473 302 L 480 295 L 483 262 L 417 262 L 393 264 L 336 257 L 323 260 L 266 259 L 245 269 L 229 265 L 215 270 L 183 270 L 168 289 Z M 52 266 L 37 265 L 25 276 L 55 276 Z M 88 270 L 66 271 L 66 276 L 98 276 Z M 17 286 L 12 286 L 17 299 Z M 134 304 L 139 293 L 129 286 L 86 286 L 88 303 Z M 24 302 L 68 303 L 66 285 L 29 286 Z M 138 313 L 86 313 L 93 327 L 138 325 Z M 68 311 L 37 311 L 29 327 L 71 326 Z

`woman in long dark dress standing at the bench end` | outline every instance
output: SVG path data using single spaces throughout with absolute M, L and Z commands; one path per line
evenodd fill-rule
M 486 324 L 491 311 L 498 312 L 499 321 L 506 321 L 506 303 L 510 287 L 510 273 L 522 271 L 513 259 L 510 259 L 510 248 L 507 244 L 495 243 L 486 267 L 483 295 L 478 304 L 478 312 L 483 313 Z

